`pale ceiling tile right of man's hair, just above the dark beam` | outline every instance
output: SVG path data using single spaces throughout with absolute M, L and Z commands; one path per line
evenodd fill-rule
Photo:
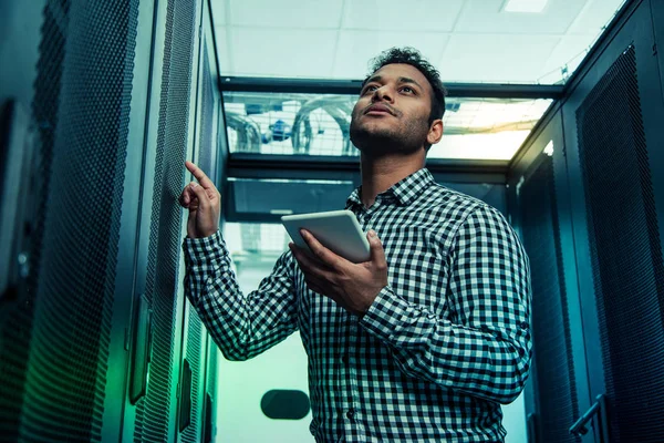
M 559 37 L 506 34 L 453 34 L 440 76 L 454 82 L 535 83 L 541 76 Z

